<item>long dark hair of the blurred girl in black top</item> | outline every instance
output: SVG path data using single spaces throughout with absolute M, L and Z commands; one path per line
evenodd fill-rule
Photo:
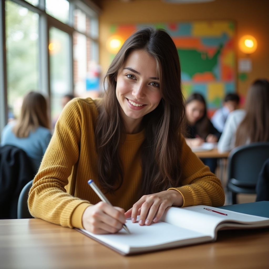
M 210 119 L 207 117 L 207 108 L 206 108 L 206 100 L 204 100 L 203 95 L 200 93 L 192 93 L 189 95 L 189 97 L 186 99 L 185 105 L 189 104 L 192 101 L 199 101 L 204 105 L 204 113 L 203 116 L 195 123 L 195 128 L 197 134 L 203 138 L 206 139 L 208 134 L 210 133 Z M 187 124 L 187 120 L 186 120 Z M 188 134 L 185 134 L 186 137 L 188 137 Z

